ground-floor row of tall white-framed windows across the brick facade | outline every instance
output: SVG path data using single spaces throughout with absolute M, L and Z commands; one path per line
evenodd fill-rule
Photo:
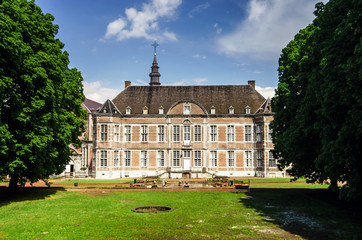
M 109 158 L 109 150 L 100 150 L 98 154 L 100 154 L 100 166 L 107 167 L 111 159 Z M 123 151 L 123 166 L 131 167 L 132 166 L 132 151 L 126 150 Z M 183 155 L 181 150 L 174 150 L 172 151 L 172 166 L 173 167 L 180 167 L 181 160 L 190 159 L 191 160 L 191 152 L 193 152 L 193 166 L 194 167 L 201 167 L 202 166 L 202 152 L 200 150 L 183 150 Z M 218 152 L 219 151 L 210 151 L 210 166 L 211 167 L 218 167 Z M 141 151 L 139 156 L 139 165 L 141 167 L 149 166 L 149 159 L 148 159 L 148 151 Z M 157 166 L 164 167 L 165 166 L 165 152 L 163 150 L 157 151 Z M 227 151 L 227 166 L 228 167 L 235 167 L 235 151 Z M 244 166 L 245 167 L 253 167 L 256 164 L 256 167 L 263 167 L 263 151 L 258 150 L 256 152 L 256 163 L 253 163 L 253 151 L 244 151 Z M 113 166 L 119 167 L 122 163 L 120 161 L 120 151 L 114 150 L 113 151 Z M 276 167 L 276 160 L 274 159 L 272 151 L 268 152 L 268 167 L 275 168 Z

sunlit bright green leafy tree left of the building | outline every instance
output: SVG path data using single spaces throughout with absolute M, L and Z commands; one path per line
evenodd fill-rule
M 0 176 L 9 187 L 59 174 L 79 144 L 82 76 L 54 17 L 34 0 L 0 0 Z

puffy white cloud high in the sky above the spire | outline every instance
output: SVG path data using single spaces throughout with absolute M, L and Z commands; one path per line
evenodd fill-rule
M 135 8 L 127 8 L 125 17 L 120 17 L 107 26 L 104 39 L 115 37 L 118 41 L 129 38 L 145 38 L 152 40 L 177 40 L 173 32 L 159 29 L 161 18 L 172 18 L 176 15 L 176 9 L 182 0 L 152 0 L 142 5 L 138 11 Z

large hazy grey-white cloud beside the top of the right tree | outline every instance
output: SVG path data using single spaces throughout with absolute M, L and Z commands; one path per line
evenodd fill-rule
M 217 39 L 219 51 L 232 57 L 278 58 L 299 30 L 312 23 L 314 5 L 319 1 L 251 0 L 247 18 Z

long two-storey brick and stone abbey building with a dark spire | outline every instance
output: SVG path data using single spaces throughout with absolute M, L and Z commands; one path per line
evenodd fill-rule
M 283 177 L 271 150 L 270 100 L 245 85 L 149 86 L 86 100 L 83 146 L 66 175 L 113 178 Z

